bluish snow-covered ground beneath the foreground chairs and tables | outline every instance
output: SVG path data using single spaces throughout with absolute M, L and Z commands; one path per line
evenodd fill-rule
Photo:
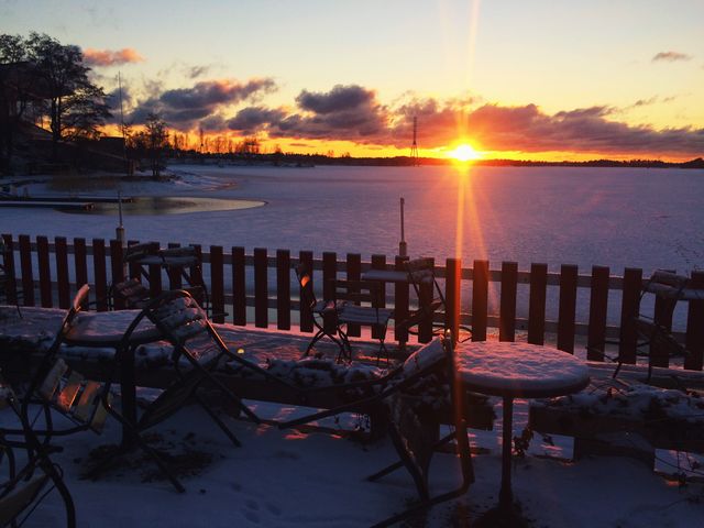
M 48 321 L 48 319 L 47 319 Z M 48 323 L 48 322 L 47 322 Z M 285 356 L 298 356 L 309 336 L 219 327 L 231 348 L 242 345 L 249 358 L 282 346 Z M 37 333 L 51 334 L 50 329 Z M 334 350 L 332 350 L 334 352 Z M 151 391 L 142 389 L 142 397 Z M 501 402 L 493 399 L 501 417 Z M 311 409 L 249 402 L 267 420 L 289 420 Z M 361 421 L 360 421 L 361 420 Z M 119 442 L 121 429 L 108 420 L 101 436 L 74 435 L 58 443 L 59 463 L 76 502 L 80 527 L 363 527 L 404 509 L 416 498 L 410 476 L 400 470 L 371 483 L 365 476 L 394 462 L 388 439 L 362 442 L 345 431 L 364 427 L 364 419 L 345 415 L 326 419 L 324 431 L 279 430 L 226 417 L 242 441 L 229 443 L 205 413 L 187 407 L 153 430 L 152 441 L 183 457 L 180 474 L 187 492 L 176 493 L 148 460 L 127 459 L 97 481 L 84 480 L 89 453 Z M 527 422 L 527 403 L 515 408 L 514 435 Z M 15 424 L 9 409 L 0 411 L 0 427 Z M 330 432 L 332 431 L 332 432 Z M 411 526 L 468 526 L 497 502 L 501 475 L 501 419 L 494 431 L 471 431 L 476 482 L 460 499 L 437 506 Z M 571 439 L 536 435 L 526 458 L 514 458 L 513 486 L 522 513 L 534 527 L 691 528 L 704 518 L 702 482 L 680 487 L 642 462 L 597 457 L 571 462 Z M 672 453 L 659 452 L 660 469 L 674 473 Z M 692 459 L 680 455 L 682 469 Z M 701 475 L 701 471 L 695 471 Z M 431 488 L 449 490 L 459 482 L 453 455 L 437 453 Z M 62 503 L 52 493 L 29 518 L 28 527 L 61 526 Z M 471 525 L 469 525 L 471 526 Z

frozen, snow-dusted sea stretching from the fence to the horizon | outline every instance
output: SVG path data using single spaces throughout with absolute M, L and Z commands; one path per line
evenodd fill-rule
M 704 267 L 704 170 L 594 167 L 279 168 L 174 165 L 170 184 L 122 184 L 125 196 L 227 198 L 265 202 L 248 209 L 165 215 L 125 211 L 129 239 L 231 248 L 394 255 L 399 198 L 406 201 L 411 256 L 465 265 L 516 261 L 520 270 L 578 264 L 680 272 Z M 32 195 L 53 194 L 31 186 Z M 90 194 L 116 195 L 117 188 Z M 207 207 L 207 206 L 206 206 Z M 193 211 L 193 209 L 184 209 Z M 113 238 L 117 212 L 0 210 L 12 234 Z

